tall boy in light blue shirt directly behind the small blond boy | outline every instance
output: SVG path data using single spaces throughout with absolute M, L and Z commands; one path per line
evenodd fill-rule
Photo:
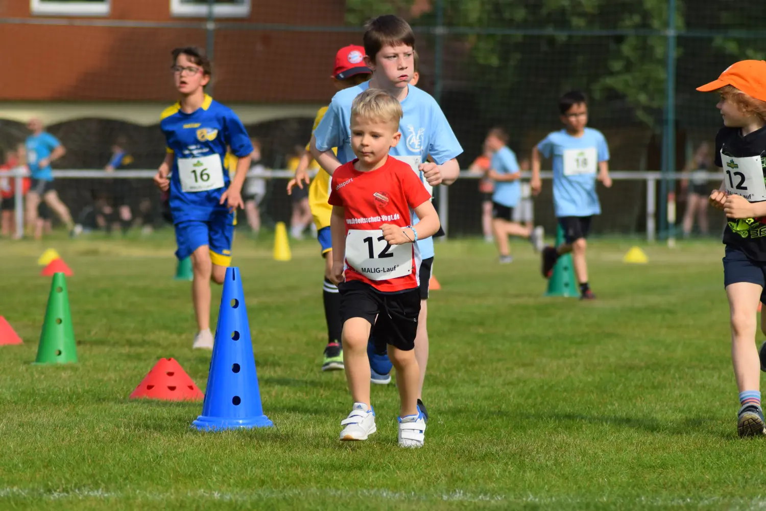
M 395 15 L 382 15 L 368 21 L 363 37 L 365 65 L 372 78 L 364 84 L 341 90 L 334 97 L 311 137 L 310 150 L 322 169 L 329 175 L 345 162 L 355 158 L 351 148 L 351 105 L 355 97 L 368 88 L 388 91 L 401 102 L 404 116 L 399 123 L 401 142 L 391 148 L 391 156 L 408 163 L 429 192 L 432 187 L 453 183 L 460 174 L 456 157 L 463 152 L 450 123 L 430 94 L 409 84 L 414 74 L 414 44 L 412 28 Z M 338 156 L 332 148 L 338 148 Z M 433 162 L 427 161 L 428 156 Z M 432 194 L 433 195 L 433 194 Z M 417 218 L 414 218 L 417 224 Z M 427 414 L 421 394 L 428 361 L 427 298 L 430 270 L 434 261 L 434 241 L 427 237 L 417 241 L 423 261 L 420 269 L 421 313 L 417 321 L 415 358 L 420 366 L 418 407 Z M 345 353 L 344 353 L 345 356 Z M 375 368 L 372 368 L 375 370 Z M 390 371 L 390 362 L 388 362 Z M 388 383 L 391 377 L 373 382 Z

